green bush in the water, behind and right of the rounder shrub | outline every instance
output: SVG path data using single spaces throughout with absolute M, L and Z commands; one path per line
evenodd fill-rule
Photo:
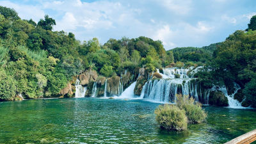
M 176 105 L 180 109 L 184 109 L 186 111 L 186 116 L 188 116 L 188 122 L 190 124 L 196 124 L 203 122 L 206 118 L 206 113 L 202 109 L 200 103 L 195 102 L 195 99 L 192 97 L 189 98 L 189 95 L 176 95 Z

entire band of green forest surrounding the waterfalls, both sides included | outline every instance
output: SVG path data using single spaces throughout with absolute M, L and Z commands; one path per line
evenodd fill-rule
M 144 67 L 148 72 L 164 67 L 204 65 L 196 77 L 205 88 L 213 84 L 241 86 L 244 106 L 256 107 L 256 16 L 248 29 L 236 31 L 225 42 L 206 47 L 179 47 L 165 51 L 161 41 L 140 36 L 97 38 L 80 42 L 73 33 L 52 31 L 54 19 L 22 20 L 15 10 L 0 6 L 0 100 L 59 97 L 74 76 L 88 69 L 101 76 L 120 76 Z M 72 97 L 72 95 L 70 95 Z

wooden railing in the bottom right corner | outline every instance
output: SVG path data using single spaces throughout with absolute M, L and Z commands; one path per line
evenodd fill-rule
M 243 134 L 241 136 L 238 136 L 237 138 L 234 138 L 231 141 L 228 141 L 225 144 L 247 144 L 252 143 L 256 140 L 256 129 L 250 132 L 247 132 L 246 134 Z

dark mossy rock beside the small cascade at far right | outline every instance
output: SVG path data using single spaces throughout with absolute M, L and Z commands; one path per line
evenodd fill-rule
M 228 99 L 222 92 L 211 92 L 209 95 L 209 104 L 215 106 L 228 106 Z

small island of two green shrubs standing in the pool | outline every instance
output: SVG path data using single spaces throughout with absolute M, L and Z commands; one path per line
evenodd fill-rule
M 156 110 L 156 121 L 161 129 L 167 131 L 186 130 L 188 124 L 204 122 L 207 114 L 202 109 L 202 104 L 195 102 L 189 95 L 176 95 L 176 105 L 160 105 Z

